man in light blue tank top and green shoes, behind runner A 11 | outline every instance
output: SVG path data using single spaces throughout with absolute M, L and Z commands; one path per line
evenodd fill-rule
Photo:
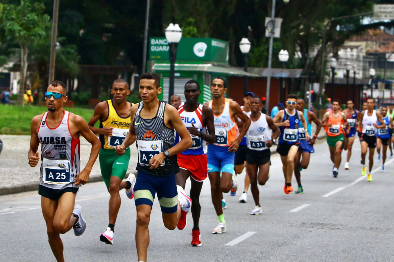
M 297 151 L 297 155 L 294 158 L 294 175 L 296 176 L 296 180 L 297 180 L 297 184 L 298 184 L 298 188 L 296 190 L 296 194 L 303 194 L 304 190 L 302 188 L 301 185 L 301 170 L 302 169 L 307 169 L 308 165 L 309 165 L 309 159 L 310 159 L 310 154 L 314 153 L 314 148 L 313 145 L 316 141 L 316 138 L 318 137 L 318 134 L 320 132 L 320 129 L 322 128 L 322 123 L 320 123 L 320 121 L 318 120 L 318 118 L 316 117 L 316 115 L 308 110 L 308 109 L 304 109 L 305 107 L 305 101 L 303 100 L 303 98 L 297 98 L 297 105 L 296 105 L 296 109 L 298 111 L 304 111 L 304 118 L 305 121 L 307 121 L 307 125 L 308 125 L 308 133 L 309 136 L 311 137 L 312 135 L 312 121 L 316 124 L 316 131 L 315 134 L 313 135 L 313 137 L 308 141 L 305 140 L 305 129 L 303 127 L 298 127 L 298 137 L 299 137 L 299 149 Z M 301 155 L 302 155 L 302 161 L 300 163 L 301 160 Z

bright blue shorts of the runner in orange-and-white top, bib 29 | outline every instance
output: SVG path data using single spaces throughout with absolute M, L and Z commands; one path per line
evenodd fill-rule
M 228 172 L 234 171 L 235 153 L 229 152 L 228 146 L 216 146 L 208 144 L 206 152 L 208 158 L 208 173 L 209 172 Z

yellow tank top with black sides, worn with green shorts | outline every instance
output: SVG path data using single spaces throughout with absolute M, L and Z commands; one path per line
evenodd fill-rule
M 119 116 L 115 107 L 113 107 L 112 100 L 107 100 L 108 117 L 103 122 L 100 122 L 100 128 L 113 127 L 112 137 L 100 135 L 101 146 L 104 149 L 115 149 L 116 146 L 121 145 L 130 129 L 130 115 L 126 117 Z M 133 106 L 134 104 L 131 103 Z

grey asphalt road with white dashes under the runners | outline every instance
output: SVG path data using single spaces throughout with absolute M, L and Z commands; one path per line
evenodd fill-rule
M 190 247 L 191 215 L 183 231 L 169 231 L 162 223 L 156 199 L 149 226 L 148 260 L 394 261 L 393 159 L 388 159 L 386 173 L 381 173 L 375 164 L 373 181 L 367 182 L 366 177 L 360 175 L 358 141 L 351 169 L 343 170 L 343 161 L 338 178 L 331 176 L 333 165 L 327 144 L 318 144 L 315 150 L 309 168 L 301 172 L 304 194 L 284 194 L 278 155 L 271 158 L 269 181 L 259 186 L 262 214 L 250 215 L 254 207 L 250 190 L 247 203 L 238 202 L 241 190 L 236 197 L 226 194 L 227 232 L 224 234 L 211 234 L 217 218 L 210 199 L 209 181 L 204 182 L 200 200 L 201 247 Z M 346 152 L 343 157 L 345 155 Z M 243 188 L 243 177 L 244 174 L 239 176 L 240 188 Z M 293 178 L 293 187 L 296 185 Z M 188 188 L 189 182 L 186 192 Z M 124 191 L 121 197 L 123 202 L 115 226 L 114 245 L 106 245 L 99 241 L 100 233 L 108 224 L 109 195 L 104 183 L 80 188 L 76 199 L 84 209 L 87 229 L 79 237 L 74 236 L 72 230 L 61 236 L 66 261 L 138 261 L 134 201 L 127 199 Z M 0 228 L 0 261 L 54 261 L 47 242 L 40 196 L 36 192 L 1 196 Z M 234 244 L 241 236 L 245 239 Z

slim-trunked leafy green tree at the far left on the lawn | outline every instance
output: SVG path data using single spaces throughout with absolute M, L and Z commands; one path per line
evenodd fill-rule
M 20 0 L 20 5 L 1 5 L 3 27 L 6 36 L 20 46 L 20 81 L 17 103 L 23 102 L 28 66 L 29 44 L 46 37 L 51 26 L 50 18 L 44 14 L 45 6 L 33 0 Z

